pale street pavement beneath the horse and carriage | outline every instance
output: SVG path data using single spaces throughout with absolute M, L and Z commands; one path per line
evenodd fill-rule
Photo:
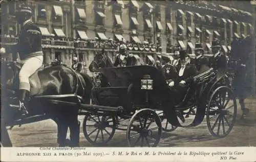
M 237 102 L 238 103 L 238 102 Z M 238 117 L 236 124 L 225 138 L 212 137 L 208 131 L 206 121 L 199 126 L 189 128 L 177 128 L 172 132 L 162 132 L 158 147 L 242 147 L 256 146 L 256 98 L 246 100 L 249 114 L 245 119 L 240 119 L 241 109 L 238 103 Z M 92 146 L 82 133 L 82 121 L 80 116 L 81 132 L 80 147 Z M 56 147 L 57 127 L 52 120 L 15 126 L 8 129 L 14 147 Z M 69 137 L 69 133 L 67 135 Z M 116 130 L 112 140 L 106 147 L 126 147 L 126 131 Z

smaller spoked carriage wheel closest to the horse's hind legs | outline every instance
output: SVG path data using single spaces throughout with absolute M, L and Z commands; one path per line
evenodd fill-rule
M 95 146 L 108 143 L 116 131 L 115 117 L 93 115 L 84 117 L 83 134 L 87 141 Z

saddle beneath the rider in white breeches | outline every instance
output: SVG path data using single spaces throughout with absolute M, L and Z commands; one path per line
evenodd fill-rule
M 22 68 L 22 63 L 15 61 L 15 62 L 8 62 L 8 64 L 12 68 L 13 72 L 15 73 L 16 81 L 18 81 L 18 74 L 19 74 L 20 69 Z M 30 87 L 31 87 L 30 88 L 31 96 L 37 94 L 41 88 L 41 83 L 40 83 L 40 79 L 38 76 L 38 72 L 41 71 L 42 69 L 44 69 L 43 65 L 41 67 L 39 67 L 38 70 L 29 77 L 29 83 L 30 83 Z

